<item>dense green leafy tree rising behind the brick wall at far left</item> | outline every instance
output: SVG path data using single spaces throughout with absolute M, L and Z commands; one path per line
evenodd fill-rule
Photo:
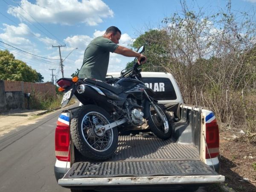
M 8 81 L 38 81 L 38 73 L 8 50 L 0 51 L 0 79 Z

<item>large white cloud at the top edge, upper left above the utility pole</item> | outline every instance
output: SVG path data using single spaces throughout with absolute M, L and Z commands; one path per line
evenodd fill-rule
M 40 23 L 64 25 L 86 23 L 89 26 L 98 25 L 103 18 L 114 15 L 102 0 L 37 0 L 35 4 L 21 0 L 20 6 L 9 7 L 8 13 L 20 20 L 26 17 L 30 22 L 37 20 Z

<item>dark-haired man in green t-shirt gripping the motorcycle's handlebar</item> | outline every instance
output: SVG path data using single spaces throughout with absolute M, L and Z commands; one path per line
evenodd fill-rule
M 115 27 L 109 27 L 105 34 L 90 42 L 84 52 L 84 61 L 78 77 L 81 79 L 92 78 L 105 81 L 108 71 L 110 52 L 121 54 L 127 57 L 137 57 L 138 63 L 143 64 L 146 57 L 126 47 L 119 46 L 121 31 Z M 140 62 L 145 58 L 143 62 Z

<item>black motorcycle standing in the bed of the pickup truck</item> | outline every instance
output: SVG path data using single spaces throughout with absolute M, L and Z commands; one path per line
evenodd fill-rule
M 137 52 L 144 52 L 142 46 Z M 73 94 L 83 104 L 70 123 L 74 145 L 85 157 L 106 160 L 116 151 L 118 132 L 128 126 L 148 123 L 151 131 L 166 140 L 172 130 L 161 105 L 154 99 L 154 91 L 142 82 L 140 65 L 134 59 L 131 70 L 108 84 L 96 79 L 61 78 L 57 84 L 64 90 L 61 106 Z

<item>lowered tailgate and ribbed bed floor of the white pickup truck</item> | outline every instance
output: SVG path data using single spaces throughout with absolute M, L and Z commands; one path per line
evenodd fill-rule
M 114 186 L 223 182 L 224 176 L 200 160 L 194 145 L 157 137 L 120 136 L 105 162 L 77 162 L 58 180 L 61 186 Z

